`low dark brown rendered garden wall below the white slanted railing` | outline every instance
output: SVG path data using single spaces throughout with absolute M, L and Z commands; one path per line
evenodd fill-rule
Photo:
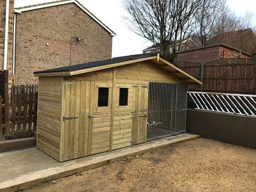
M 186 132 L 256 148 L 255 117 L 188 109 Z

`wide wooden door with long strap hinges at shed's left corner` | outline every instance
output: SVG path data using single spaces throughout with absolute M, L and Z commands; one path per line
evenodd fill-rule
M 91 154 L 92 81 L 64 81 L 61 161 Z

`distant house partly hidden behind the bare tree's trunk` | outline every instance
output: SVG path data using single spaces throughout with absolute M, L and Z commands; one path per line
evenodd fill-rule
M 178 48 L 179 48 L 179 44 L 180 44 L 179 42 L 180 42 L 180 40 L 177 40 L 176 50 L 178 50 Z M 171 45 L 172 46 L 170 46 L 170 48 L 169 48 L 170 54 L 173 53 L 174 42 L 171 42 Z M 185 49 L 188 49 L 188 48 L 197 48 L 196 44 L 194 43 L 194 41 L 191 38 L 183 39 L 181 41 L 180 50 L 185 50 Z M 156 52 L 160 52 L 158 45 L 150 46 L 148 48 L 145 48 L 142 51 L 143 51 L 143 53 L 156 53 Z

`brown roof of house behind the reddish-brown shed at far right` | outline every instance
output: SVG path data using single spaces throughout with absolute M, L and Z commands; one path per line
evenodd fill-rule
M 219 33 L 207 41 L 208 45 L 225 43 L 248 53 L 256 53 L 256 36 L 251 28 Z

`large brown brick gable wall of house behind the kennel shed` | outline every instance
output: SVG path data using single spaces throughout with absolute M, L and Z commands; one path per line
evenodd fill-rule
M 111 58 L 112 36 L 75 4 L 22 12 L 16 20 L 16 84 L 37 84 L 34 71 Z M 49 43 L 49 46 L 46 44 Z

